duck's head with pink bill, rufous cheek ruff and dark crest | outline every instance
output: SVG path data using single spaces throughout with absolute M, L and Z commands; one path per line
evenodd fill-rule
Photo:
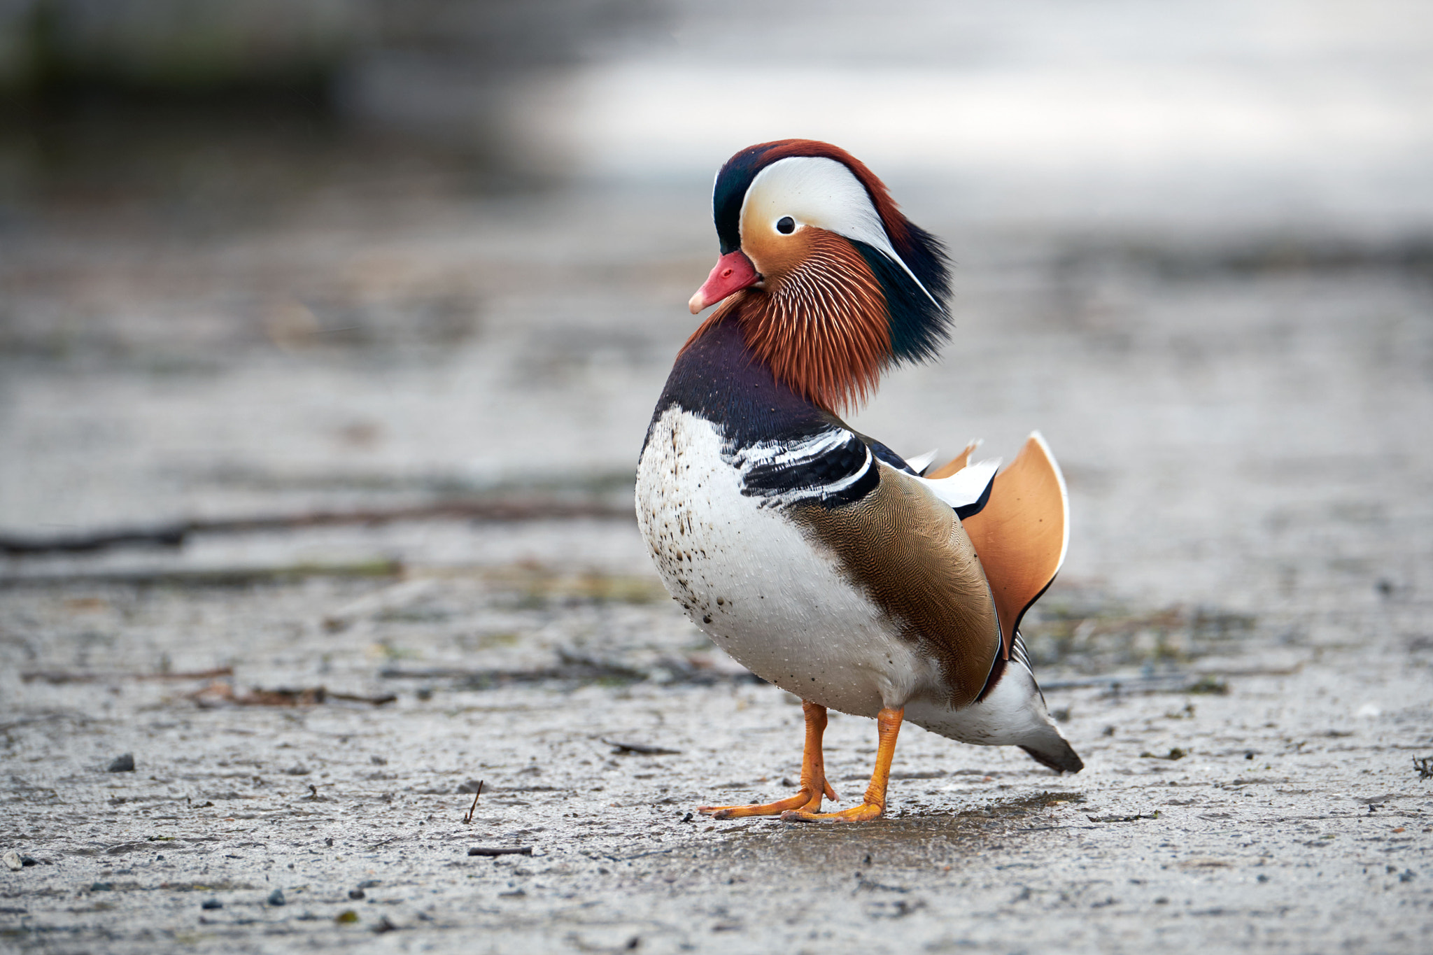
M 827 411 L 947 336 L 944 249 L 844 149 L 748 146 L 716 173 L 712 215 L 721 258 L 689 306 L 722 305 L 694 339 L 735 314 L 777 378 Z

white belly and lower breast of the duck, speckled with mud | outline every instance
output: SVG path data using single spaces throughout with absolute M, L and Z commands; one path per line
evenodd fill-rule
M 669 408 L 636 477 L 636 517 L 668 593 L 722 650 L 801 699 L 860 716 L 940 696 L 896 634 L 778 508 L 741 493 L 716 427 Z

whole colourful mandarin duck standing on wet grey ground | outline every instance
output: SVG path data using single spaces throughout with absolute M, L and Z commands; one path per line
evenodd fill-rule
M 689 308 L 719 306 L 658 399 L 636 517 L 692 621 L 801 697 L 805 750 L 795 796 L 701 812 L 877 819 L 903 720 L 1079 772 L 1019 630 L 1069 541 L 1045 441 L 1003 471 L 976 444 L 929 470 L 934 452 L 904 460 L 838 417 L 947 338 L 941 243 L 814 140 L 738 152 L 712 210 L 721 258 Z M 861 803 L 823 813 L 828 709 L 876 717 L 878 749 Z

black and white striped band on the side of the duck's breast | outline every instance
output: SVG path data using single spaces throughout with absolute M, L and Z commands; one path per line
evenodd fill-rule
M 881 483 L 876 455 L 851 431 L 824 428 L 788 441 L 757 441 L 729 452 L 741 493 L 762 507 L 858 501 Z

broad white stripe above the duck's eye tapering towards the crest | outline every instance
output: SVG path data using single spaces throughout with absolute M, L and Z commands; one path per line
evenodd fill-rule
M 896 262 L 920 286 L 937 308 L 940 302 L 916 278 L 896 253 L 881 216 L 871 205 L 866 186 L 845 163 L 824 156 L 787 156 L 778 159 L 751 180 L 741 202 L 741 222 L 747 215 L 777 222 L 784 216 L 801 225 L 814 225 L 847 239 L 864 242 Z

